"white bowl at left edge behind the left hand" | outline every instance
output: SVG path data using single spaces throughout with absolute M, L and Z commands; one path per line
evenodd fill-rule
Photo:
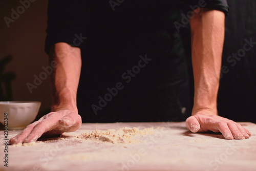
M 8 130 L 24 129 L 35 120 L 40 105 L 39 101 L 0 101 L 0 122 L 6 127 L 8 120 Z

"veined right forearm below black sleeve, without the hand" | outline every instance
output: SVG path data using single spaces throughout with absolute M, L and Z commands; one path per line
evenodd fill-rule
M 192 115 L 200 110 L 215 110 L 224 42 L 225 14 L 201 9 L 190 19 L 191 55 L 195 81 Z

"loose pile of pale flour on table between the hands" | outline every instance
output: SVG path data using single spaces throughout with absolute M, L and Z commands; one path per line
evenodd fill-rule
M 139 137 L 143 137 L 145 135 L 152 135 L 155 133 L 153 128 L 147 128 L 143 130 L 139 130 L 138 127 L 122 127 L 119 130 L 106 130 L 100 131 L 96 130 L 92 133 L 84 133 L 77 138 L 82 139 L 90 139 L 92 141 L 103 141 L 103 142 L 111 142 L 111 143 L 139 143 L 142 142 L 139 140 Z

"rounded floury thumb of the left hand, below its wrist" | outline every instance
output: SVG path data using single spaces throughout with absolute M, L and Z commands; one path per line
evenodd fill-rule
M 59 119 L 59 124 L 63 127 L 63 132 L 74 132 L 81 126 L 81 116 L 72 112 Z

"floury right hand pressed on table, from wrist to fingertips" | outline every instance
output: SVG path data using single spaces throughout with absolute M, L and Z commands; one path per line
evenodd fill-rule
M 247 139 L 251 133 L 241 124 L 218 116 L 211 110 L 201 110 L 186 119 L 187 129 L 193 133 L 221 132 L 226 139 Z

